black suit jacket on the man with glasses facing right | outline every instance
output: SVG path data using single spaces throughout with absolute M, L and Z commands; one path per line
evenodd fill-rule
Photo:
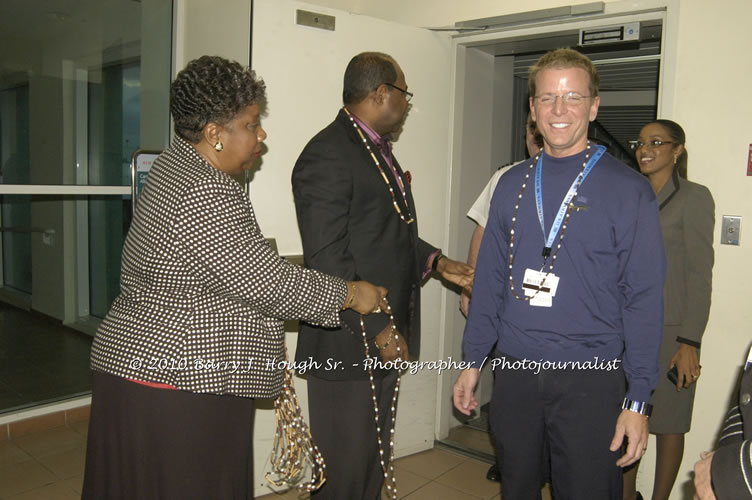
M 411 357 L 417 358 L 420 282 L 428 258 L 437 249 L 418 237 L 415 202 L 399 163 L 394 159 L 409 206 L 405 206 L 399 184 L 379 149 L 367 140 L 400 210 L 406 218 L 409 213 L 416 220 L 406 224 L 400 218 L 370 153 L 350 118 L 340 110 L 334 122 L 306 145 L 292 173 L 305 265 L 344 279 L 366 280 L 386 287 L 397 329 L 406 337 Z M 360 316 L 352 310 L 340 316 L 343 324 L 336 329 L 302 323 L 296 360 L 312 358 L 322 363 L 311 369 L 319 378 L 366 379 Z M 388 323 L 389 316 L 384 313 L 365 316 L 366 337 L 373 339 Z M 370 355 L 378 355 L 372 341 Z M 341 364 L 333 368 L 332 363 L 338 361 Z M 374 372 L 377 376 L 385 373 Z

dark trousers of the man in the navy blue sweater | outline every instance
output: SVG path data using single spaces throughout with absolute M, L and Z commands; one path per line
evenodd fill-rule
M 516 361 L 504 354 L 507 361 Z M 622 452 L 608 448 L 621 413 L 625 379 L 612 371 L 497 367 L 491 428 L 502 497 L 540 499 L 544 443 L 556 500 L 621 499 Z

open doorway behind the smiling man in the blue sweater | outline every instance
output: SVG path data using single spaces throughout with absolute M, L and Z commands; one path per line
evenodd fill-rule
M 572 20 L 541 29 L 509 28 L 493 35 L 457 37 L 454 151 L 451 172 L 451 251 L 467 255 L 475 224 L 465 217 L 469 207 L 500 166 L 527 157 L 525 124 L 528 113 L 527 70 L 548 50 L 574 47 L 590 57 L 601 76 L 601 105 L 589 138 L 607 147 L 609 153 L 637 168 L 630 141 L 659 109 L 662 44 L 665 12 L 638 16 Z M 578 46 L 580 29 L 637 23 L 636 40 Z M 492 103 L 489 105 L 489 103 Z M 447 296 L 447 331 L 454 332 L 445 352 L 461 356 L 465 319 L 454 296 Z M 455 375 L 456 377 L 456 375 Z M 483 370 L 476 389 L 479 411 L 464 419 L 452 409 L 451 386 L 441 381 L 441 394 L 449 395 L 439 408 L 439 443 L 489 462 L 494 460 L 488 430 L 488 403 L 493 374 Z

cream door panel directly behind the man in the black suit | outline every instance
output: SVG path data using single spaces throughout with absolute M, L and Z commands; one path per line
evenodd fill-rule
M 297 8 L 335 15 L 336 30 L 297 26 Z M 415 93 L 394 151 L 403 168 L 412 173 L 420 234 L 440 244 L 445 221 L 435 214 L 443 213 L 447 189 L 450 79 L 436 75 L 449 73 L 449 37 L 291 0 L 256 0 L 253 31 L 253 66 L 268 86 L 264 128 L 269 137 L 268 152 L 251 183 L 251 198 L 264 234 L 276 238 L 280 253 L 302 253 L 290 185 L 295 160 L 306 142 L 335 118 L 342 106 L 345 67 L 352 56 L 365 50 L 394 56 Z M 423 293 L 424 305 L 439 303 L 437 283 L 429 283 Z M 422 318 L 421 357 L 435 359 L 439 316 L 427 309 Z M 288 337 L 291 356 L 296 337 Z M 433 446 L 436 384 L 437 374 L 430 371 L 403 378 L 397 454 Z M 297 378 L 296 386 L 305 404 L 305 380 Z M 257 415 L 257 471 L 259 462 L 263 466 L 267 462 L 265 443 L 271 444 L 271 417 Z

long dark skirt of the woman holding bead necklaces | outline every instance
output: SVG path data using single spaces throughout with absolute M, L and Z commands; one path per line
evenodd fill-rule
M 253 498 L 253 400 L 94 372 L 81 498 Z

